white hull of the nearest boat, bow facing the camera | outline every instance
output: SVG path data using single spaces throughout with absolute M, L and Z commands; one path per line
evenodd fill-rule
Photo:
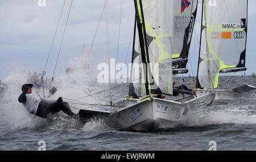
M 163 125 L 180 121 L 187 106 L 159 98 L 138 101 L 110 115 L 122 128 L 157 130 Z

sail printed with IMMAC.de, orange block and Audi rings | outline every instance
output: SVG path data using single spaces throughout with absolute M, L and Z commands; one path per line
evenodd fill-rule
M 203 1 L 197 88 L 218 87 L 220 72 L 246 70 L 247 0 Z

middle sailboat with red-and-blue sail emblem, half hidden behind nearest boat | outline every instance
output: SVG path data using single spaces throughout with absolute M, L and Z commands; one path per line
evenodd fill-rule
M 188 73 L 187 63 L 189 48 L 192 40 L 193 28 L 196 20 L 198 1 L 180 1 L 176 2 L 174 9 L 174 36 L 172 36 L 172 73 Z M 189 23 L 188 23 L 189 22 Z M 190 92 L 183 90 L 183 93 L 189 94 L 188 97 L 178 98 L 174 101 L 184 103 L 189 106 L 189 110 L 200 109 L 202 106 L 212 106 L 214 95 L 204 94 L 197 96 L 193 89 Z

